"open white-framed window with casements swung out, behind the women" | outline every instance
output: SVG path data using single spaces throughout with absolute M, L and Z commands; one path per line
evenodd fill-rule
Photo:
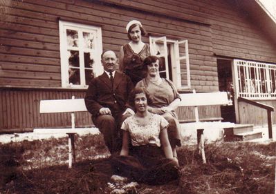
M 187 40 L 149 37 L 151 55 L 160 57 L 160 77 L 173 81 L 178 90 L 191 87 Z

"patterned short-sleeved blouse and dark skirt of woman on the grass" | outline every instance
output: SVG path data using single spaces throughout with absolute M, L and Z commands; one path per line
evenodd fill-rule
M 173 159 L 167 159 L 160 145 L 160 130 L 166 130 L 167 121 L 152 114 L 149 124 L 138 124 L 134 116 L 125 119 L 122 130 L 129 132 L 129 155 L 111 159 L 113 173 L 146 184 L 165 184 L 178 179 L 178 167 Z

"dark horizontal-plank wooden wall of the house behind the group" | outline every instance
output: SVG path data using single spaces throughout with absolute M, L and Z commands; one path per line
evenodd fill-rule
M 191 84 L 197 92 L 219 90 L 216 55 L 276 62 L 275 43 L 264 37 L 261 29 L 256 28 L 254 23 L 250 24 L 230 2 L 1 1 L 0 96 L 6 102 L 1 104 L 3 124 L 0 128 L 47 126 L 46 122 L 39 121 L 39 117 L 43 116 L 37 114 L 40 99 L 71 98 L 72 93 L 80 94 L 77 90 L 61 88 L 59 19 L 100 26 L 103 48 L 116 52 L 129 41 L 125 26 L 131 19 L 140 20 L 149 35 L 188 39 Z M 149 37 L 143 40 L 148 43 Z M 25 104 L 26 107 L 18 108 L 17 113 L 13 110 L 15 108 L 12 109 L 16 105 L 12 104 Z M 27 106 L 33 108 L 28 109 Z M 189 109 L 178 111 L 180 117 L 187 121 L 193 117 Z M 205 107 L 202 111 L 202 117 L 206 119 L 221 116 L 216 107 Z M 26 117 L 26 124 L 13 120 L 20 119 L 20 115 Z M 53 126 L 70 126 L 68 117 L 53 121 L 47 120 Z M 80 125 L 89 125 L 90 117 L 85 121 L 87 123 L 81 122 Z

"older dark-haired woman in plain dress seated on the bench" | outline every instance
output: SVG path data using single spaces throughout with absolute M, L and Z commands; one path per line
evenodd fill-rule
M 147 77 L 138 82 L 136 87 L 146 88 L 153 101 L 148 110 L 150 113 L 162 115 L 169 122 L 168 135 L 174 157 L 177 157 L 176 146 L 181 146 L 181 128 L 175 113 L 181 101 L 174 84 L 159 76 L 159 59 L 149 56 L 144 60 Z

